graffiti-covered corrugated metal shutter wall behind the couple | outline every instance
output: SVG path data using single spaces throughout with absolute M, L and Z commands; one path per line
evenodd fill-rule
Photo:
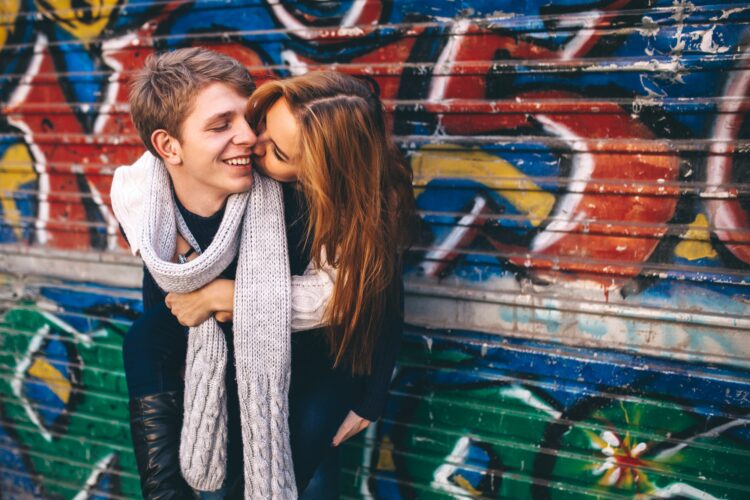
M 750 5 L 0 4 L 0 496 L 137 497 L 109 206 L 127 82 L 201 45 L 375 84 L 422 219 L 348 496 L 747 498 Z

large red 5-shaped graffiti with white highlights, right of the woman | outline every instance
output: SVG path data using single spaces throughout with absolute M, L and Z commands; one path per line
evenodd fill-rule
M 481 34 L 473 25 L 454 31 L 462 36 L 443 50 L 426 104 L 428 111 L 438 114 L 445 132 L 463 136 L 519 129 L 532 135 L 541 132 L 566 143 L 561 153 L 572 163 L 568 189 L 574 188 L 573 192 L 558 196 L 556 208 L 531 247 L 497 241 L 493 245 L 514 255 L 509 258 L 512 263 L 538 275 L 545 275 L 547 269 L 586 272 L 590 279 L 610 284 L 612 276 L 638 274 L 674 214 L 678 192 L 668 186 L 679 173 L 676 154 L 618 106 L 590 100 L 576 103 L 584 100 L 582 95 L 525 92 L 487 104 L 486 74 L 457 72 L 462 60 L 487 60 L 499 52 L 521 59 L 554 54 L 509 37 Z M 482 104 L 473 104 L 477 102 Z M 451 103 L 481 107 L 483 112 L 456 113 Z M 622 185 L 628 181 L 637 181 L 641 192 L 623 195 Z M 613 223 L 617 230 L 612 230 Z

